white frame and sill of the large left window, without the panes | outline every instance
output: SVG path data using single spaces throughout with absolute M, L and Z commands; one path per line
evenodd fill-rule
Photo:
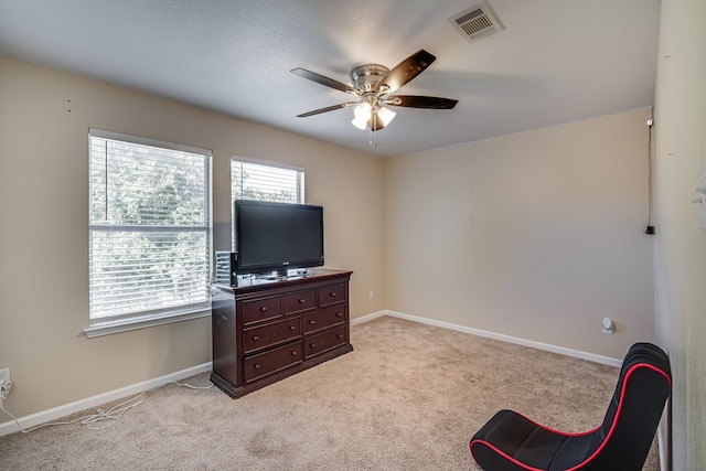
M 152 228 L 157 227 L 157 229 L 151 229 L 151 231 L 152 232 L 171 231 L 171 232 L 179 232 L 179 233 L 204 232 L 206 235 L 205 244 L 206 244 L 206 254 L 208 259 L 207 259 L 207 274 L 206 274 L 207 277 L 205 279 L 206 292 L 205 292 L 204 300 L 193 302 L 193 303 L 188 303 L 188 304 L 172 306 L 169 308 L 160 308 L 160 309 L 153 309 L 153 310 L 148 309 L 139 312 L 131 312 L 131 313 L 116 314 L 116 315 L 108 315 L 108 317 L 93 317 L 93 313 L 90 312 L 90 306 L 89 306 L 88 308 L 89 309 L 89 312 L 88 312 L 89 327 L 84 329 L 85 335 L 87 338 L 95 338 L 100 335 L 131 331 L 136 329 L 143 329 L 148 327 L 161 325 L 161 324 L 167 324 L 172 322 L 181 322 L 185 320 L 211 315 L 210 283 L 211 283 L 212 274 L 213 274 L 213 152 L 210 149 L 204 149 L 204 148 L 199 148 L 193 146 L 179 144 L 179 143 L 160 141 L 160 140 L 138 137 L 138 136 L 125 135 L 120 132 L 107 131 L 107 130 L 97 129 L 97 128 L 89 128 L 88 129 L 88 186 L 89 186 L 88 250 L 89 253 L 90 250 L 93 250 L 93 240 L 90 236 L 93 231 L 118 233 L 120 231 L 124 231 L 130 227 L 129 224 L 125 224 L 125 225 L 106 224 L 105 227 L 107 227 L 107 231 L 103 231 L 103 229 L 97 229 L 97 227 L 101 226 L 100 224 L 94 224 L 90 220 L 90 205 L 93 204 L 93 197 L 94 197 L 94 194 L 92 191 L 92 180 L 90 180 L 92 179 L 90 171 L 92 171 L 92 163 L 93 163 L 92 142 L 94 137 L 99 139 L 108 139 L 108 140 L 127 142 L 131 144 L 150 146 L 150 147 L 157 147 L 157 148 L 162 148 L 168 150 L 195 153 L 204 157 L 204 186 L 205 186 L 204 188 L 204 205 L 205 207 L 203 210 L 206 213 L 205 225 L 194 225 L 194 226 L 145 225 L 143 227 L 140 227 L 140 229 L 145 228 L 149 231 L 150 227 Z M 135 229 L 135 226 L 132 228 Z M 93 288 L 90 283 L 92 270 L 93 268 L 89 261 L 89 267 L 88 267 L 88 275 L 89 275 L 88 296 L 89 297 Z

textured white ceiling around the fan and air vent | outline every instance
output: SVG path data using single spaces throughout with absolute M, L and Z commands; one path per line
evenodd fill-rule
M 469 43 L 447 21 L 477 0 L 0 0 L 0 54 L 378 156 L 398 156 L 650 106 L 659 0 L 490 0 L 506 30 Z M 399 89 L 459 100 L 395 107 L 375 132 L 340 109 L 361 64 L 437 56 Z

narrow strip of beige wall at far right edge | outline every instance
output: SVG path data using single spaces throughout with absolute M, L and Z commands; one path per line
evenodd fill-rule
M 656 336 L 668 350 L 673 469 L 706 465 L 706 231 L 698 170 L 706 161 L 706 2 L 662 0 L 655 96 Z

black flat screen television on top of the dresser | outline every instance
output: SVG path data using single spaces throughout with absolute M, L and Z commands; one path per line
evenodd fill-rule
M 233 203 L 238 275 L 323 265 L 323 207 L 236 200 Z

